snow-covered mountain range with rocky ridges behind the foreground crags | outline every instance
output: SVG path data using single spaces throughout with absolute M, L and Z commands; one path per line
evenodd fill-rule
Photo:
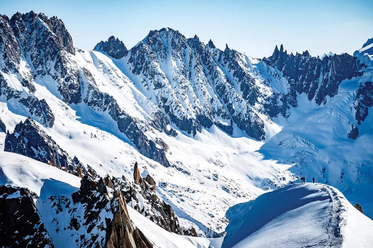
M 371 43 L 354 56 L 281 45 L 256 59 L 164 28 L 129 50 L 110 37 L 84 51 L 57 17 L 0 16 L 0 149 L 123 177 L 128 205 L 178 234 L 220 237 L 231 206 L 302 176 L 372 218 Z

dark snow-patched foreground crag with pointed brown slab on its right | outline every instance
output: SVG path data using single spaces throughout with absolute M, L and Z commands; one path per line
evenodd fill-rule
M 121 192 L 114 189 L 113 196 L 110 198 L 106 190 L 108 180 L 111 181 L 110 177 L 106 177 L 104 180 L 99 178 L 97 181 L 86 175 L 81 180 L 79 191 L 72 195 L 74 204 L 64 197 L 52 197 L 50 199 L 51 202 L 54 202 L 52 207 L 66 211 L 63 209 L 69 206 L 70 226 L 77 231 L 72 236 L 75 235 L 77 238 L 80 236 L 77 239 L 77 246 L 152 247 L 144 234 L 133 225 L 128 215 L 127 203 Z M 79 211 L 77 211 L 78 208 Z M 83 216 L 80 215 L 81 208 L 84 209 Z M 111 217 L 109 218 L 109 216 Z M 63 224 L 60 224 L 61 228 L 64 228 Z

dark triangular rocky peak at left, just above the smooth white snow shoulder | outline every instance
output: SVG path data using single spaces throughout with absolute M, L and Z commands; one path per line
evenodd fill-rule
M 7 132 L 4 151 L 21 154 L 40 162 L 53 165 L 77 176 L 87 173 L 78 158 L 71 159 L 31 117 L 18 123 L 13 133 Z M 77 168 L 80 168 L 77 170 Z

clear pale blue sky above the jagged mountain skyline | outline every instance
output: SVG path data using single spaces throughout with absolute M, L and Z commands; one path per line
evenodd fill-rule
M 111 35 L 129 49 L 163 27 L 259 58 L 276 44 L 311 55 L 353 53 L 373 37 L 373 0 L 0 0 L 0 14 L 30 10 L 58 16 L 82 49 Z

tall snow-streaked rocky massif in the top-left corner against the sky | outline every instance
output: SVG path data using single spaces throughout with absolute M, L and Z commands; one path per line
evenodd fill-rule
M 3 67 L 18 73 L 23 86 L 34 92 L 32 78 L 36 75 L 50 75 L 58 82 L 57 88 L 64 101 L 79 102 L 81 89 L 78 71 L 76 68 L 71 69 L 68 63 L 68 54 L 74 55 L 75 49 L 60 19 L 55 16 L 48 18 L 43 13 L 36 14 L 33 11 L 25 14 L 17 12 L 10 19 L 2 16 L 0 34 L 0 44 L 6 44 L 3 49 Z M 22 55 L 29 58 L 31 74 L 24 75 L 18 71 Z

